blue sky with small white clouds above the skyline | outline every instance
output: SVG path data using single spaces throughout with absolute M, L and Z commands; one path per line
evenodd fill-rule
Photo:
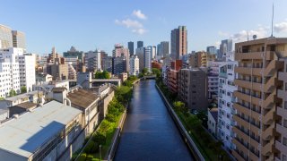
M 270 36 L 272 0 L 1 0 L 0 23 L 26 33 L 29 52 L 62 53 L 71 46 L 111 54 L 116 43 L 170 41 L 170 30 L 186 25 L 188 52 L 224 38 Z M 287 37 L 287 1 L 274 3 L 274 36 Z

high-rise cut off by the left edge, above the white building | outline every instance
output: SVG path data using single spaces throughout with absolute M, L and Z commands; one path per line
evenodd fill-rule
M 0 48 L 13 47 L 12 30 L 0 24 Z

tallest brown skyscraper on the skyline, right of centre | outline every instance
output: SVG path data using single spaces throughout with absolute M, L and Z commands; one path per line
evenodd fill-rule
M 171 30 L 170 50 L 172 59 L 180 59 L 181 55 L 187 54 L 187 27 L 178 26 Z

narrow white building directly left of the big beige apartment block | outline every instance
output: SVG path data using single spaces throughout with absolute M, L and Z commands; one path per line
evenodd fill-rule
M 236 78 L 234 68 L 237 62 L 230 61 L 220 66 L 219 72 L 219 90 L 218 90 L 218 132 L 217 137 L 222 140 L 226 148 L 232 149 L 232 126 L 234 121 L 232 114 L 235 114 L 233 103 L 236 101 L 233 97 L 233 91 L 237 90 L 234 85 Z

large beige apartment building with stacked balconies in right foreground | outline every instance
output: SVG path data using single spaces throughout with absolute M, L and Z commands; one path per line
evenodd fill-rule
M 237 160 L 286 160 L 287 38 L 235 45 L 238 90 L 232 131 Z

